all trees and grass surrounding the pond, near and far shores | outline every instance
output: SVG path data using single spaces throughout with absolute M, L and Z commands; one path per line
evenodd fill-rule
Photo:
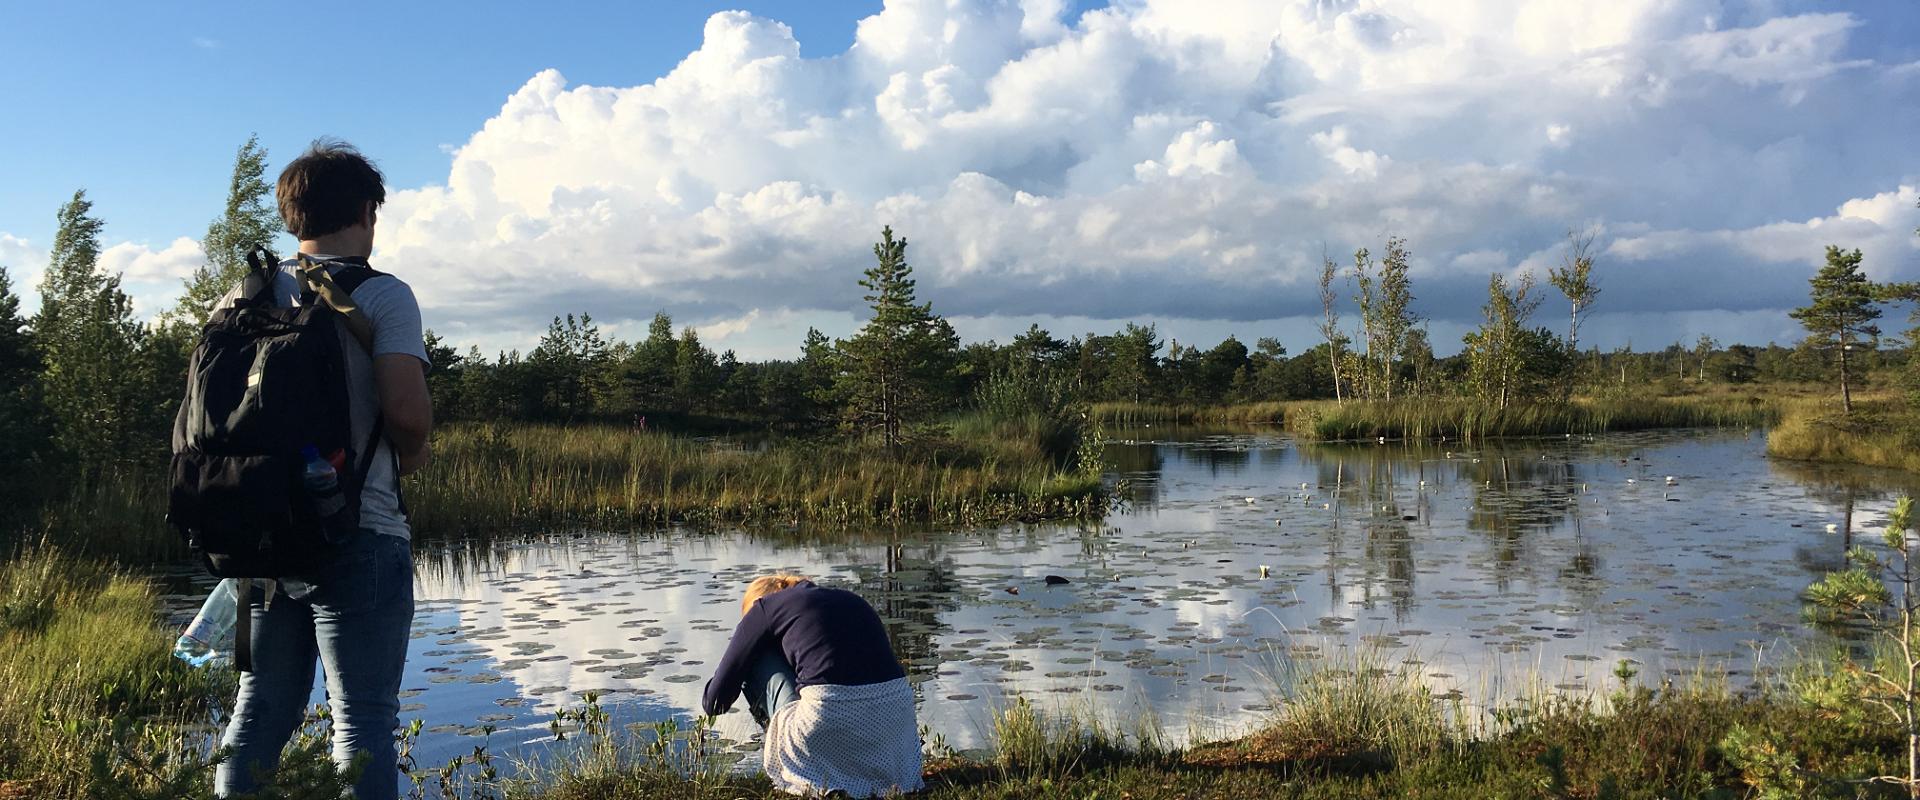
M 232 685 L 167 656 L 156 587 L 136 570 L 179 554 L 159 526 L 169 426 L 198 320 L 242 274 L 246 247 L 278 230 L 265 163 L 257 142 L 240 148 L 205 267 L 152 322 L 104 271 L 106 223 L 84 192 L 58 209 L 35 315 L 0 265 L 0 798 L 207 794 L 204 723 Z M 716 353 L 664 309 L 636 341 L 561 315 L 526 353 L 463 351 L 428 332 L 444 426 L 436 462 L 409 485 L 419 529 L 1100 514 L 1100 426 L 1162 420 L 1269 422 L 1315 439 L 1774 426 L 1780 457 L 1920 468 L 1920 359 L 1878 326 L 1920 286 L 1874 284 L 1857 249 L 1828 249 L 1793 313 L 1807 328 L 1797 345 L 1701 336 L 1601 351 L 1582 349 L 1580 326 L 1605 269 L 1592 236 L 1574 234 L 1546 274 L 1571 309 L 1565 334 L 1536 322 L 1538 276 L 1492 274 L 1455 355 L 1428 340 L 1413 244 L 1396 236 L 1346 263 L 1321 259 L 1319 338 L 1296 351 L 1275 338 L 1165 341 L 1154 324 L 1069 336 L 1035 324 L 1006 343 L 962 343 L 920 295 L 908 253 L 881 228 L 872 265 L 858 278 L 849 267 L 866 324 L 843 340 L 808 330 L 795 359 Z M 996 750 L 941 760 L 929 796 L 1905 794 L 1920 758 L 1905 520 L 1903 506 L 1899 537 L 1855 556 L 1860 572 L 1809 595 L 1897 658 L 1814 662 L 1741 696 L 1711 681 L 1644 687 L 1622 666 L 1609 696 L 1484 714 L 1394 666 L 1346 664 L 1277 683 L 1260 729 L 1185 750 L 1016 704 L 995 723 Z M 1901 595 L 1870 591 L 1893 568 Z M 672 744 L 687 731 L 655 731 L 668 744 L 649 746 L 593 731 L 591 706 L 574 719 L 599 744 L 536 771 L 540 785 L 488 779 L 484 752 L 447 767 L 447 785 L 476 792 L 463 796 L 766 794 L 687 760 Z M 319 742 L 301 739 L 275 796 L 338 796 Z

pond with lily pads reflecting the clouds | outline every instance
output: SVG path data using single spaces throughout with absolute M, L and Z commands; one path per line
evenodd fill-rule
M 1142 428 L 1108 462 L 1131 501 L 1100 524 L 424 545 L 401 719 L 424 719 L 422 765 L 482 741 L 534 752 L 584 693 L 616 721 L 684 719 L 766 572 L 874 602 L 920 721 L 956 748 L 983 746 L 1014 693 L 1227 735 L 1269 712 L 1286 660 L 1352 648 L 1471 702 L 1603 691 L 1622 660 L 1747 681 L 1814 641 L 1801 589 L 1914 489 L 1768 460 L 1761 432 L 1465 447 Z M 743 754 L 755 731 L 743 708 L 720 719 Z

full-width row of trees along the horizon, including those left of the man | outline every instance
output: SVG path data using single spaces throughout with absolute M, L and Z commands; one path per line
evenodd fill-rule
M 207 226 L 207 261 L 184 282 L 175 307 L 142 322 L 121 278 L 100 263 L 104 221 L 86 192 L 60 207 L 40 309 L 19 311 L 0 265 L 0 480 L 86 476 L 123 464 L 157 464 L 179 403 L 188 353 L 213 303 L 246 272 L 244 253 L 280 234 L 265 182 L 267 152 L 250 138 L 234 159 L 227 205 Z M 1578 332 L 1599 299 L 1590 236 L 1571 236 L 1548 276 L 1572 315 L 1565 336 L 1534 324 L 1544 290 L 1532 274 L 1492 274 L 1482 324 L 1453 357 L 1434 357 L 1413 313 L 1411 249 L 1388 238 L 1379 257 L 1352 265 L 1323 257 L 1321 340 L 1288 353 L 1273 338 L 1252 347 L 1227 338 L 1213 347 L 1164 343 L 1152 324 L 1114 334 L 1056 338 L 1031 326 L 1008 343 L 960 343 L 952 326 L 916 295 L 906 240 L 881 230 L 876 263 L 858 286 L 872 307 L 847 340 L 808 330 L 795 361 L 749 363 L 714 353 L 693 328 L 674 330 L 662 311 L 647 338 L 607 338 L 588 315 L 555 317 L 528 351 L 486 357 L 428 332 L 428 376 L 442 420 L 687 422 L 695 416 L 793 428 L 839 428 L 897 443 L 941 412 L 1060 412 L 1079 403 L 1248 403 L 1281 399 L 1476 397 L 1507 407 L 1565 401 L 1572 393 L 1645 393 L 1649 382 L 1847 382 L 1905 353 L 1882 347 L 1874 318 L 1912 286 L 1874 286 L 1860 253 L 1830 247 L 1812 280 L 1812 303 L 1795 311 L 1811 336 L 1797 347 L 1693 345 L 1636 353 L 1580 351 Z M 403 271 L 403 265 L 399 265 Z M 1352 290 L 1357 330 L 1344 326 L 1340 290 Z M 12 472 L 12 474 L 6 474 Z

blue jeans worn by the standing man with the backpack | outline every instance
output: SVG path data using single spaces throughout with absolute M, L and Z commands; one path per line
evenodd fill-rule
M 413 627 L 407 541 L 363 529 L 330 564 L 282 581 L 271 608 L 261 608 L 263 595 L 253 591 L 253 671 L 240 675 L 215 792 L 253 792 L 280 764 L 280 750 L 305 718 L 317 658 L 332 704 L 334 764 L 361 765 L 353 787 L 359 800 L 396 798 L 394 727 Z

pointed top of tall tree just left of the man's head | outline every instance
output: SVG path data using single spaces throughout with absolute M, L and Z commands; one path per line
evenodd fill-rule
M 186 278 L 179 305 L 161 315 L 161 326 L 184 324 L 198 328 L 240 278 L 246 278 L 246 253 L 261 244 L 273 244 L 280 232 L 280 213 L 273 207 L 273 186 L 267 186 L 267 148 L 259 136 L 248 136 L 234 155 L 234 171 L 227 180 L 227 209 L 207 224 L 200 249 L 207 261 Z

